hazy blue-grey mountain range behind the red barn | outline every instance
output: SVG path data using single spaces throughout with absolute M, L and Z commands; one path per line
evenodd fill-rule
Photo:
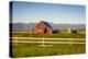
M 12 25 L 12 31 L 30 31 L 37 23 L 10 23 Z M 54 30 L 86 30 L 86 24 L 54 24 L 50 23 Z

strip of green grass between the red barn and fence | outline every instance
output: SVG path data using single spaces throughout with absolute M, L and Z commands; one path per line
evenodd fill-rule
M 47 38 L 86 38 L 86 34 L 58 33 L 58 34 L 31 34 L 31 33 L 12 33 L 16 37 L 47 37 Z

